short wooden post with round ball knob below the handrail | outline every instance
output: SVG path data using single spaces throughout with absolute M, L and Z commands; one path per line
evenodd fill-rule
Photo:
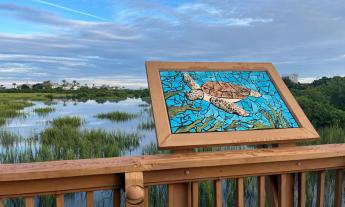
M 126 207 L 144 206 L 144 178 L 142 172 L 125 173 Z

